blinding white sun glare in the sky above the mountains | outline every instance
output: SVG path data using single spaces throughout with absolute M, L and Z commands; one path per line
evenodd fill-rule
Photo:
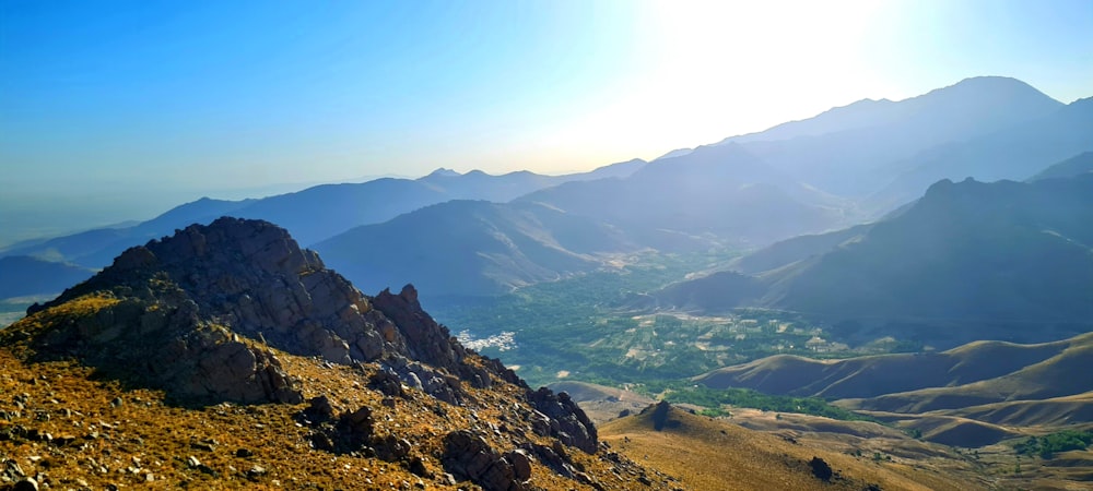
M 680 146 L 804 118 L 828 100 L 860 98 L 861 59 L 877 2 L 643 3 L 642 73 L 541 141 L 633 148 L 653 158 Z M 755 73 L 756 71 L 761 73 Z M 800 91 L 801 79 L 810 82 Z M 672 121 L 665 125 L 663 121 Z

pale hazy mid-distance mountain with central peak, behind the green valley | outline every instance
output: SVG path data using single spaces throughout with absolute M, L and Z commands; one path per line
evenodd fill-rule
M 518 201 L 604 221 L 666 250 L 766 243 L 824 230 L 844 218 L 837 199 L 801 185 L 734 144 L 655 160 L 624 179 L 569 182 Z

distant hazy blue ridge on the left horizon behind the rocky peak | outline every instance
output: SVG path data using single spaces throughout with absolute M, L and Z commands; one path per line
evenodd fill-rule
M 265 219 L 283 226 L 303 243 L 315 243 L 355 226 L 389 220 L 423 206 L 456 199 L 509 201 L 521 194 L 571 180 L 626 176 L 644 166 L 630 160 L 567 176 L 512 172 L 466 175 L 439 169 L 416 180 L 383 178 L 363 183 L 321 184 L 260 200 L 208 197 L 177 206 L 137 226 L 95 229 L 46 241 L 28 241 L 0 250 L 0 255 L 33 255 L 99 268 L 131 246 L 171 235 L 189 224 L 221 216 Z

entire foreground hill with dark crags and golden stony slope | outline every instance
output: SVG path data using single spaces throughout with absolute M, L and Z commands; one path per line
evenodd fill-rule
M 269 223 L 131 248 L 27 313 L 0 331 L 5 488 L 669 487 L 413 287 L 364 296 Z

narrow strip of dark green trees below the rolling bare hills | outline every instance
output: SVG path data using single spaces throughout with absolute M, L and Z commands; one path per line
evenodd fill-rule
M 718 410 L 722 409 L 724 406 L 736 406 L 764 411 L 777 411 L 779 414 L 795 412 L 799 415 L 822 416 L 842 421 L 880 422 L 877 419 L 832 406 L 827 402 L 815 397 L 778 396 L 748 388 L 709 388 L 702 385 L 686 386 L 682 383 L 665 384 L 661 387 L 663 388 L 663 399 L 673 404 L 694 404 Z

